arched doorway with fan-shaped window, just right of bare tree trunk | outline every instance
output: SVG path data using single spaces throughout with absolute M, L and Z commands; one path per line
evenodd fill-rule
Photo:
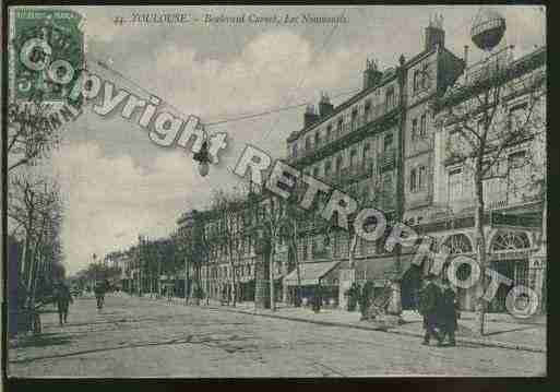
M 504 312 L 505 298 L 511 287 L 532 286 L 528 269 L 528 254 L 524 250 L 531 248 L 526 233 L 500 230 L 490 242 L 489 268 L 512 281 L 512 286 L 500 285 L 496 296 L 489 304 L 489 311 Z

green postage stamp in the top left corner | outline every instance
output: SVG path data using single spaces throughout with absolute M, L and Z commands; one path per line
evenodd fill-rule
M 10 99 L 64 102 L 84 64 L 84 17 L 71 10 L 17 9 L 10 14 Z

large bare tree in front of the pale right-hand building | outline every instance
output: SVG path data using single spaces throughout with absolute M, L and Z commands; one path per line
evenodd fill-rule
M 485 186 L 487 181 L 508 178 L 509 154 L 544 132 L 546 74 L 532 58 L 511 62 L 508 51 L 488 57 L 478 71 L 461 85 L 434 102 L 441 114 L 439 126 L 450 130 L 448 159 L 462 163 L 473 179 L 475 246 L 481 285 L 486 287 L 486 242 L 484 231 Z M 523 96 L 522 104 L 515 97 Z M 478 333 L 484 334 L 487 304 L 478 304 Z

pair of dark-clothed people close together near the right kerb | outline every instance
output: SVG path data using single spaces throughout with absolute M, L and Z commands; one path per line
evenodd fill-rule
M 449 281 L 437 282 L 436 275 L 428 275 L 426 286 L 420 292 L 418 308 L 426 330 L 422 344 L 429 345 L 430 338 L 434 337 L 442 346 L 448 337 L 449 344 L 454 346 L 460 312 L 455 292 Z

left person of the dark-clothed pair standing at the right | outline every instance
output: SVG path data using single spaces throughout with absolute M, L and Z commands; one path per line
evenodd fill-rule
M 424 345 L 430 344 L 430 337 L 436 337 L 438 345 L 442 345 L 442 338 L 437 328 L 440 325 L 439 305 L 441 304 L 441 288 L 434 282 L 436 275 L 429 273 L 426 276 L 426 286 L 420 292 L 420 307 L 419 311 L 422 316 L 424 329 Z

